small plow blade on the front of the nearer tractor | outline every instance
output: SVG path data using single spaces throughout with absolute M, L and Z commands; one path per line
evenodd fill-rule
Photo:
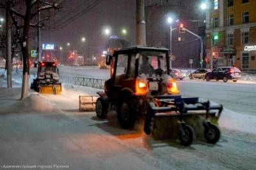
M 79 111 L 94 111 L 97 96 L 79 96 Z

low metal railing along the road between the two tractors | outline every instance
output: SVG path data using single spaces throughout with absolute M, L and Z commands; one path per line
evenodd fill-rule
M 86 77 L 70 77 L 60 76 L 61 82 L 70 83 L 74 85 L 82 85 L 86 87 L 93 87 L 97 89 L 104 89 L 104 83 L 106 80 L 97 78 L 86 78 Z

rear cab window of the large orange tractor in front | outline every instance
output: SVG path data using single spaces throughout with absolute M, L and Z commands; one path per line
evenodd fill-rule
M 159 75 L 166 71 L 166 53 L 163 52 L 141 52 L 139 58 L 140 74 L 147 77 Z

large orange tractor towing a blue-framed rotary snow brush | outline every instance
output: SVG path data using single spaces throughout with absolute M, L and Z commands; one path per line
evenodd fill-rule
M 167 48 L 134 46 L 107 55 L 111 78 L 105 81 L 104 92 L 97 92 L 97 117 L 106 118 L 115 108 L 124 129 L 133 129 L 140 119 L 145 134 L 157 139 L 179 138 L 182 145 L 189 146 L 199 133 L 208 143 L 216 143 L 222 106 L 180 96 L 170 76 L 168 52 Z

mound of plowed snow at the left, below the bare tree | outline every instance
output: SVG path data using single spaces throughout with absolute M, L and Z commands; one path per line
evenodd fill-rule
M 42 96 L 31 94 L 22 101 L 3 108 L 0 113 L 60 113 L 50 101 Z

